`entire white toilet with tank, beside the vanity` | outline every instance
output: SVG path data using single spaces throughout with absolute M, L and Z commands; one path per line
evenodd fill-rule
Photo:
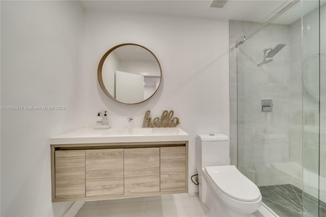
M 259 188 L 230 165 L 229 138 L 197 135 L 199 197 L 213 216 L 248 216 L 261 206 Z

